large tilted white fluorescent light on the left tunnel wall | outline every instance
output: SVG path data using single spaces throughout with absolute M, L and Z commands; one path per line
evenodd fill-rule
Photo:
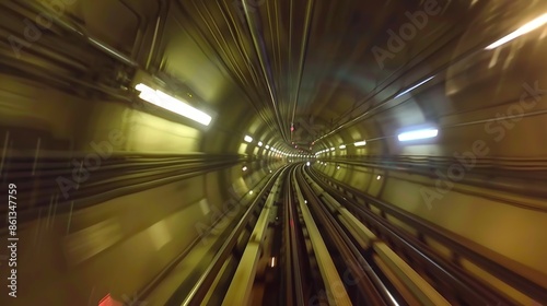
M 139 97 L 161 108 L 167 109 L 203 126 L 209 126 L 211 116 L 189 106 L 181 99 L 174 98 L 166 93 L 153 90 L 144 84 L 135 86 L 140 92 Z

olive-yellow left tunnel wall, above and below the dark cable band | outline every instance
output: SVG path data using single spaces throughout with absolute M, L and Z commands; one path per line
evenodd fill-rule
M 115 156 L 140 161 L 147 154 L 184 156 L 201 151 L 198 129 L 124 102 L 85 99 L 1 75 L 0 105 L 2 143 L 8 140 L 8 150 L 21 156 L 36 154 L 38 176 L 53 156 L 80 161 L 89 154 L 103 156 L 108 146 L 112 155 L 103 163 Z M 24 285 L 19 305 L 37 305 L 45 298 L 55 305 L 86 305 L 107 293 L 119 299 L 142 290 L 230 209 L 230 199 L 241 199 L 280 166 L 279 161 L 242 156 L 232 166 L 92 205 L 79 208 L 74 199 L 69 212 L 57 212 L 61 202 L 72 200 L 60 189 L 48 190 L 57 195 L 49 205 L 21 205 L 39 217 L 20 225 L 18 276 Z M 244 165 L 248 170 L 242 170 Z M 207 172 L 207 164 L 203 167 Z M 88 184 L 93 184 L 93 175 L 90 172 Z M 113 172 L 105 179 L 119 175 L 125 174 Z M 32 294 L 25 293 L 26 286 Z

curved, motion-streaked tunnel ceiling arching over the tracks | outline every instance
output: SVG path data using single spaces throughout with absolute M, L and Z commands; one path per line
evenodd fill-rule
M 86 35 L 114 48 L 123 63 L 212 115 L 212 125 L 197 131 L 203 134 L 196 151 L 237 152 L 249 134 L 291 154 L 342 144 L 351 153 L 352 143 L 366 140 L 368 155 L 450 155 L 461 134 L 455 129 L 473 125 L 464 114 L 496 107 L 522 82 L 533 83 L 520 69 L 525 52 L 515 49 L 538 55 L 540 47 L 525 42 L 543 34 L 494 50 L 485 46 L 545 10 L 539 2 L 476 0 L 67 3 L 65 20 L 85 24 Z M 95 78 L 112 69 L 142 81 L 72 51 L 80 66 L 94 63 Z M 500 82 L 517 85 L 481 86 Z M 479 98 L 474 85 L 481 86 Z M 125 85 L 114 96 L 132 98 Z M 421 126 L 440 129 L 435 145 L 394 141 L 401 130 Z

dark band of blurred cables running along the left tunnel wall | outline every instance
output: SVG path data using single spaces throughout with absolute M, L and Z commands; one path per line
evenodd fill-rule
M 98 154 L 97 158 L 101 158 Z M 81 163 L 83 160 L 75 161 Z M 27 190 L 27 192 L 22 192 L 23 200 L 21 202 L 23 204 L 18 210 L 19 222 L 24 223 L 37 217 L 39 208 L 50 203 L 51 193 L 53 191 L 56 193 L 56 190 L 58 190 L 56 202 L 59 213 L 70 210 L 71 207 L 80 209 L 210 170 L 228 168 L 245 160 L 237 155 L 226 158 L 190 155 L 168 161 L 165 158 L 118 158 L 110 156 L 101 158 L 101 164 L 93 164 L 90 169 L 84 165 L 70 164 L 69 161 L 69 157 L 47 160 L 40 157 L 37 170 L 31 180 L 28 178 L 32 175 L 30 169 L 33 168 L 33 160 L 11 157 L 10 169 L 5 176 L 10 181 L 18 184 L 18 189 Z M 77 166 L 81 168 L 77 168 Z M 91 170 L 91 168 L 94 169 Z M 88 177 L 82 174 L 77 176 L 77 178 L 82 177 L 82 179 L 75 181 L 73 173 L 77 170 L 81 170 L 83 174 L 88 172 Z M 5 209 L 0 208 L 0 213 Z

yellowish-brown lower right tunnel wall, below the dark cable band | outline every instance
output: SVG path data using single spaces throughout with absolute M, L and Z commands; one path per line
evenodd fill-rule
M 547 215 L 532 209 L 544 205 L 540 199 L 441 181 L 438 177 L 411 172 L 348 165 L 344 161 L 326 163 L 314 163 L 314 168 L 455 234 L 454 237 L 472 249 L 488 254 L 505 267 L 545 284 L 547 268 L 543 261 L 547 242 L 542 238 L 542 228 Z M 453 184 L 453 187 L 439 193 L 437 186 L 440 184 Z M 430 196 L 435 192 L 440 196 Z M 387 217 L 417 235 L 416 229 L 395 217 Z M 534 247 L 524 247 L 532 242 Z M 450 258 L 450 250 L 440 250 Z

